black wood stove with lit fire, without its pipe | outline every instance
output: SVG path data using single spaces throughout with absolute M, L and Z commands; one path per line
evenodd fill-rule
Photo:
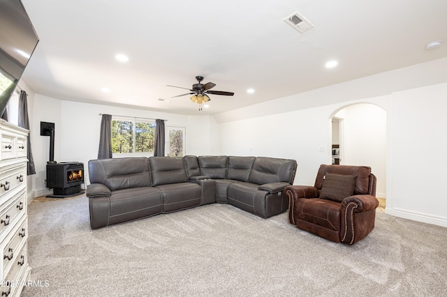
M 83 163 L 47 163 L 47 188 L 52 188 L 54 194 L 49 197 L 68 197 L 81 194 L 82 183 L 84 183 Z

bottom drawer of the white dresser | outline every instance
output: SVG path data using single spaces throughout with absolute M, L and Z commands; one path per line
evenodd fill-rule
M 3 281 L 1 281 L 1 296 L 15 296 L 17 289 L 24 286 L 23 280 L 20 280 L 20 275 L 22 275 L 22 268 L 26 268 L 28 263 L 27 259 L 27 245 L 23 247 L 20 253 L 15 257 L 13 266 Z

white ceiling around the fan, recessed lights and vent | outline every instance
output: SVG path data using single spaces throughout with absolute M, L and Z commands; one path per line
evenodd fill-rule
M 61 100 L 217 114 L 447 56 L 446 0 L 22 3 L 40 38 L 23 79 Z M 314 28 L 286 24 L 295 11 Z M 432 40 L 443 45 L 426 50 Z M 159 100 L 186 93 L 166 85 L 191 88 L 196 75 L 235 96 L 210 96 L 200 112 L 189 96 Z

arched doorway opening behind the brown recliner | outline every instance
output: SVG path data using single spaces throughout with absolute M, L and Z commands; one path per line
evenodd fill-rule
M 338 157 L 342 165 L 371 167 L 377 177 L 376 197 L 385 199 L 385 109 L 371 103 L 357 103 L 337 109 L 331 121 L 332 163 L 337 163 Z

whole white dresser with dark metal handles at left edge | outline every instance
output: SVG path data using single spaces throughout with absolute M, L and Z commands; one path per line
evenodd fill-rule
M 0 119 L 1 297 L 20 296 L 31 271 L 27 254 L 28 132 Z

